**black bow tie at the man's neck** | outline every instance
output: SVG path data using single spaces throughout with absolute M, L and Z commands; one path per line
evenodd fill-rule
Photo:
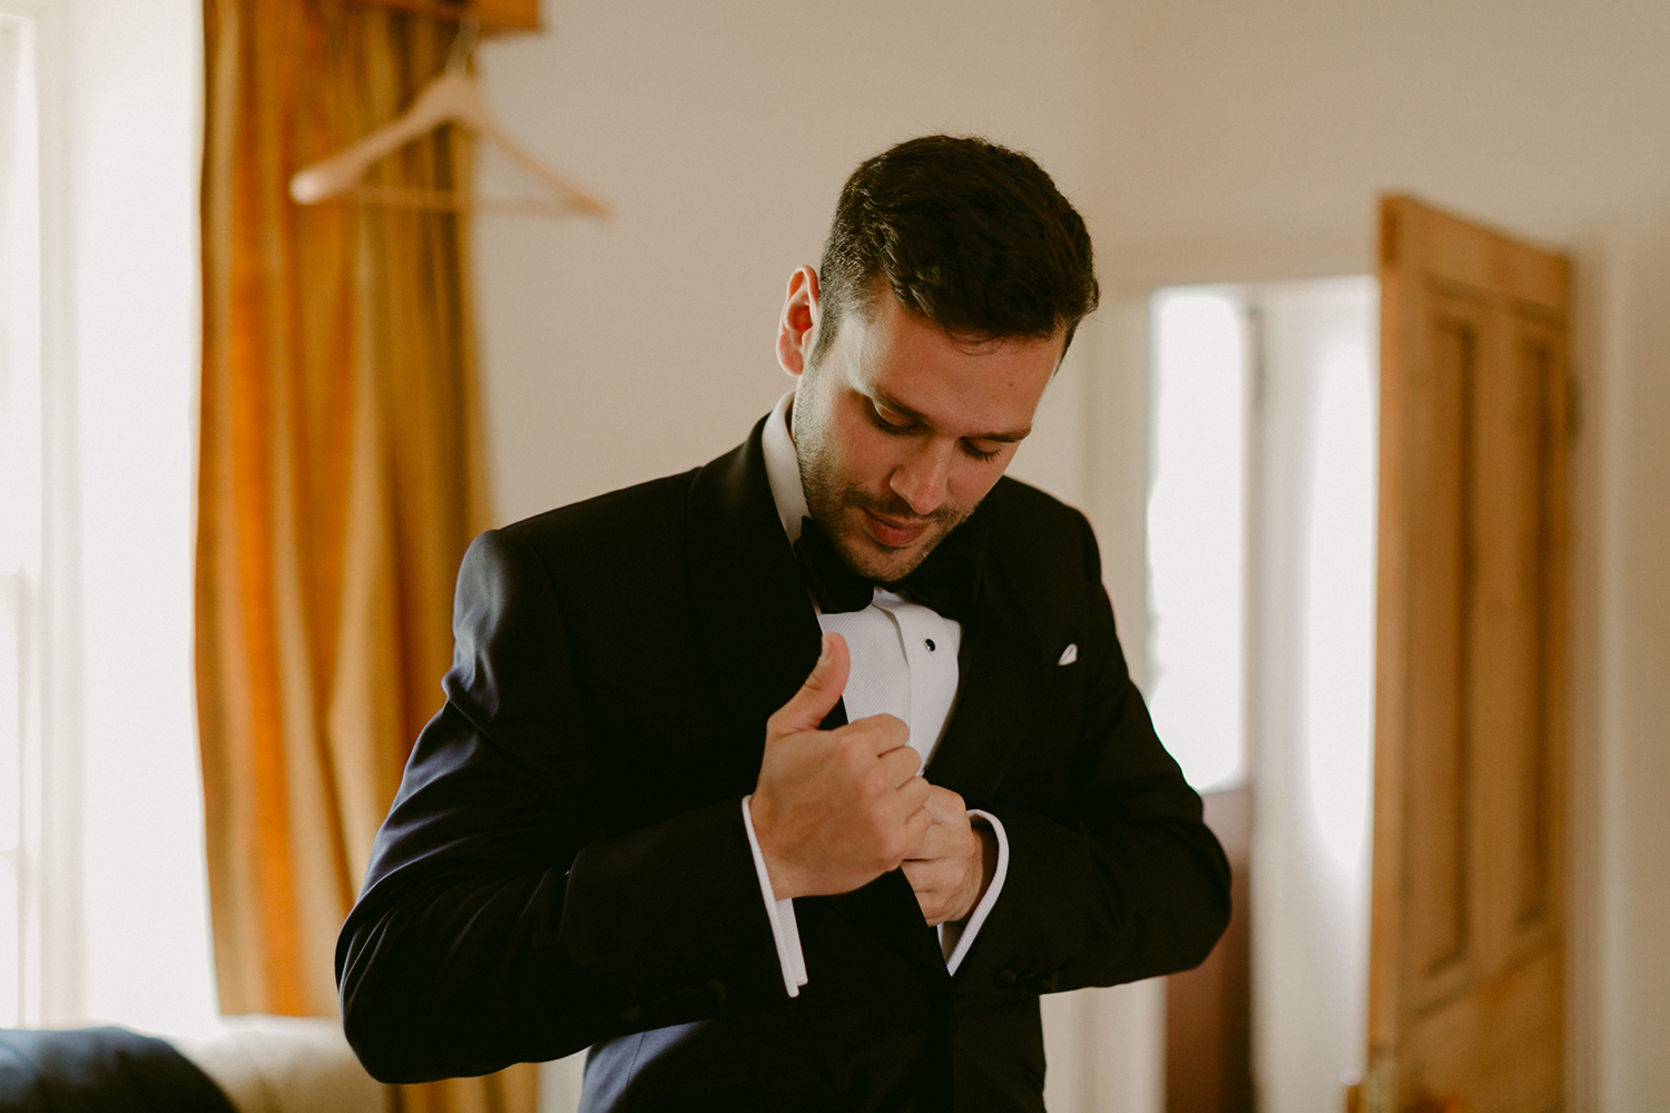
M 949 619 L 969 622 L 979 597 L 984 551 L 985 536 L 975 516 L 934 546 L 934 552 L 913 572 L 898 582 L 880 586 Z M 847 567 L 810 517 L 802 519 L 795 557 L 823 614 L 863 611 L 875 597 L 877 584 Z

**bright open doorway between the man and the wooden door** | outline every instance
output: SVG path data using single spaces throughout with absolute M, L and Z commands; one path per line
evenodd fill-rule
M 1247 876 L 1167 995 L 1169 1113 L 1333 1113 L 1364 1066 L 1378 309 L 1369 277 L 1151 299 L 1147 696 Z

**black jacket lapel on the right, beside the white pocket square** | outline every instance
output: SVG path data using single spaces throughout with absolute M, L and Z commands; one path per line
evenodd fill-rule
M 979 612 L 957 654 L 957 708 L 924 773 L 970 808 L 989 803 L 1002 783 L 1037 724 L 1037 701 L 1049 679 L 1049 662 L 1020 612 L 1020 596 L 1000 582 L 990 559 L 984 576 Z

